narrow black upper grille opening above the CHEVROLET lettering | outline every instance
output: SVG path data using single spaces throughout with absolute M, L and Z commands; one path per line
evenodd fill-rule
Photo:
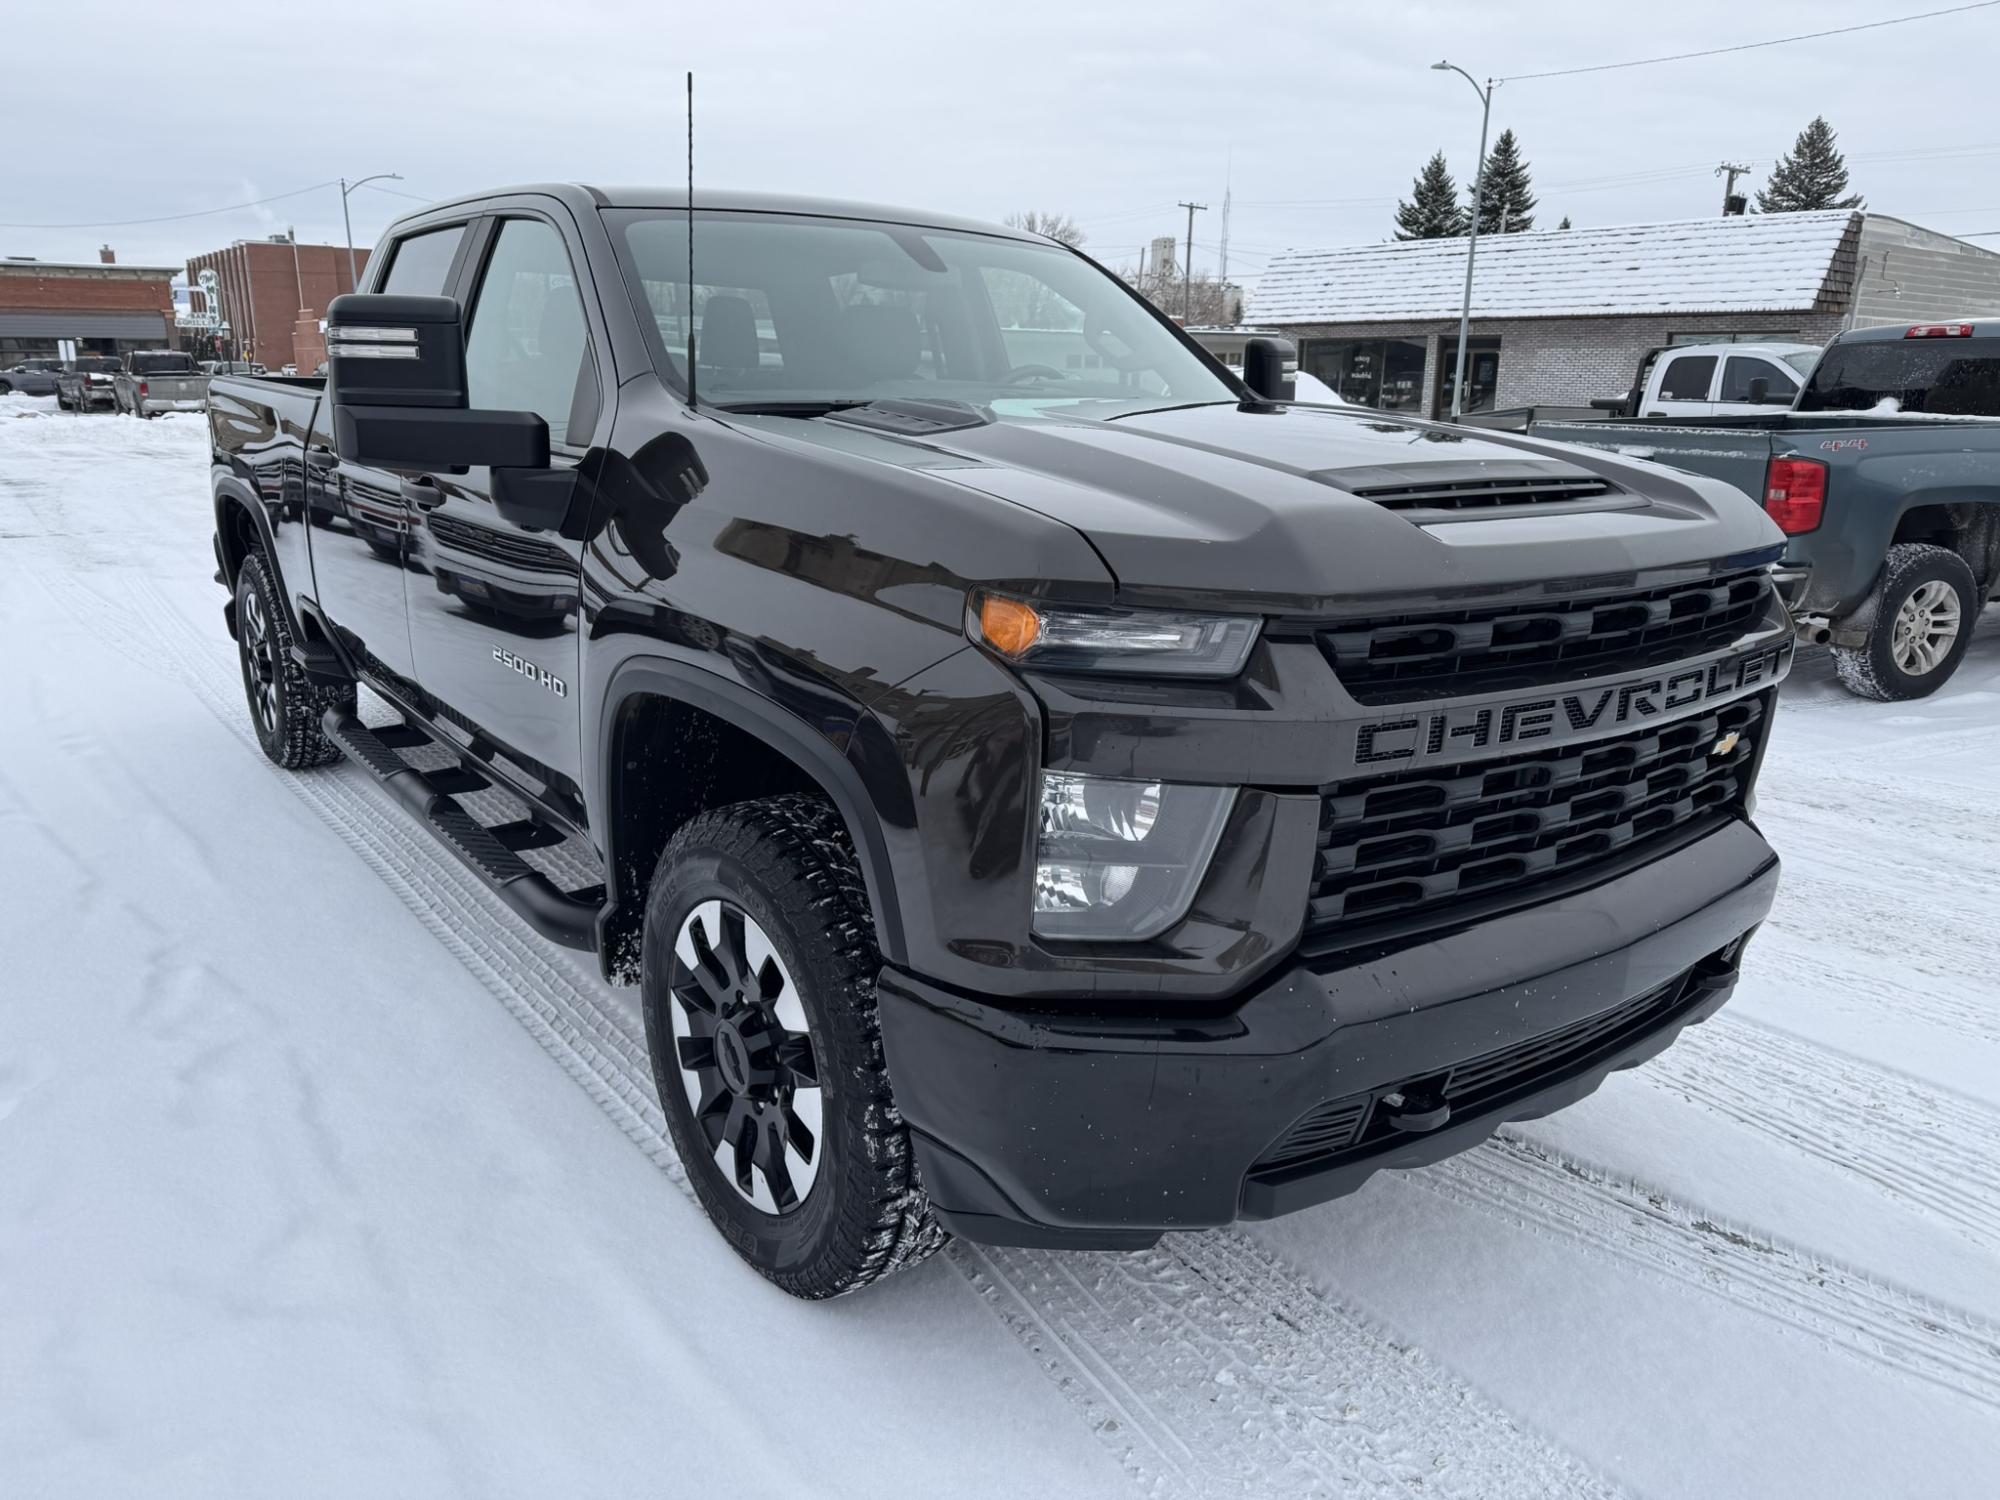
M 1314 634 L 1340 684 L 1380 704 L 1644 670 L 1728 646 L 1768 606 L 1768 574 L 1752 568 L 1636 594 L 1384 616 Z

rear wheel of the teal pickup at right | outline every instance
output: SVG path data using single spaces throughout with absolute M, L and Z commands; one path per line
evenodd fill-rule
M 1928 698 L 1958 670 L 1972 644 L 1980 590 L 1950 548 L 1898 542 L 1882 562 L 1874 622 L 1862 646 L 1836 646 L 1840 684 L 1878 702 Z

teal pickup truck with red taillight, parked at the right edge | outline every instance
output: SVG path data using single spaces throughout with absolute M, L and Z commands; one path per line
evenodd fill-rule
M 1754 400 L 1754 396 L 1752 396 Z M 1922 698 L 2000 596 L 2000 322 L 1864 328 L 1770 416 L 1534 422 L 1530 432 L 1726 480 L 1790 538 L 1802 640 L 1864 698 Z

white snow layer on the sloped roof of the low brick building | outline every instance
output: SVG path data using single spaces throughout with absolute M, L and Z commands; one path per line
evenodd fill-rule
M 1478 318 L 1812 308 L 1858 212 L 1744 214 L 1480 236 Z M 1286 250 L 1258 280 L 1258 322 L 1456 318 L 1466 242 Z

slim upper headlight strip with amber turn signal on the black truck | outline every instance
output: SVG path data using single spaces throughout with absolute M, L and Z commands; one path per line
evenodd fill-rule
M 1232 678 L 1244 670 L 1262 622 L 1242 614 L 1100 610 L 974 596 L 966 634 L 1010 662 L 1056 672 Z

